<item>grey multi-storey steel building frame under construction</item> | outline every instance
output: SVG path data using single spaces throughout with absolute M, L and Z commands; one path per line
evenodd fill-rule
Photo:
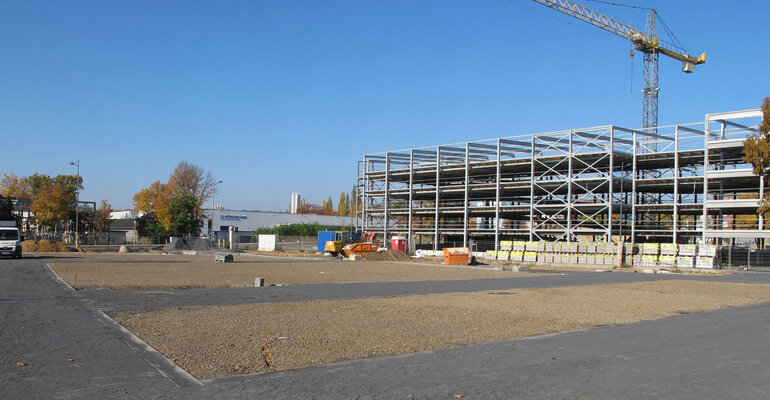
M 367 154 L 358 162 L 358 228 L 424 238 L 433 249 L 470 240 L 493 249 L 500 240 L 760 244 L 770 237 L 756 212 L 764 183 L 742 159 L 760 122 L 753 109 L 708 114 L 704 124 Z

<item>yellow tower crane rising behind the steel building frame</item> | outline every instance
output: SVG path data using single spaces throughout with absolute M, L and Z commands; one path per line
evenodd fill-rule
M 663 54 L 681 61 L 682 71 L 686 73 L 693 72 L 696 65 L 706 62 L 706 53 L 701 54 L 700 57 L 694 57 L 687 54 L 687 50 L 682 48 L 681 45 L 666 43 L 658 38 L 655 33 L 657 14 L 655 10 L 652 10 L 647 17 L 646 32 L 641 32 L 632 26 L 618 22 L 569 0 L 532 1 L 630 40 L 633 43 L 634 49 L 644 53 L 642 127 L 645 130 L 655 131 L 658 126 L 658 90 L 660 90 L 658 87 L 658 56 Z

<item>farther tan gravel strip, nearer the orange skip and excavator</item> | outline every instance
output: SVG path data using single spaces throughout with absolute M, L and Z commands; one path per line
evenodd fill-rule
M 162 256 L 163 257 L 163 256 Z M 330 282 L 399 282 L 503 278 L 511 271 L 462 269 L 418 262 L 301 261 L 291 258 L 239 257 L 217 263 L 212 257 L 164 256 L 52 259 L 51 268 L 77 289 L 189 289 Z

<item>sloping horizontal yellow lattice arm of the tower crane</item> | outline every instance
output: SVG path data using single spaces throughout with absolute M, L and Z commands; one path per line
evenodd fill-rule
M 706 53 L 701 54 L 700 57 L 688 55 L 685 49 L 670 43 L 664 43 L 658 40 L 658 37 L 650 37 L 646 33 L 634 28 L 633 26 L 618 22 L 606 15 L 600 14 L 591 10 L 590 8 L 583 7 L 580 4 L 573 3 L 569 0 L 532 1 L 540 3 L 561 13 L 567 14 L 570 17 L 577 18 L 583 22 L 587 22 L 598 28 L 604 29 L 607 32 L 611 32 L 626 38 L 632 41 L 634 43 L 634 47 L 639 51 L 645 53 L 659 52 L 675 60 L 682 61 L 685 64 L 703 64 L 706 62 Z

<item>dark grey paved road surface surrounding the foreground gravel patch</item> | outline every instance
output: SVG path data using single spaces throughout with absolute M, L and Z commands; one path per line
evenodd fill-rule
M 147 293 L 75 292 L 57 282 L 44 261 L 0 260 L 3 399 L 770 398 L 770 303 L 200 382 L 100 310 L 144 308 L 147 302 L 139 296 Z M 161 303 L 201 304 L 190 298 L 208 296 L 216 298 L 212 304 L 299 301 L 650 279 L 770 283 L 770 274 L 570 272 L 499 280 L 294 285 L 168 291 L 172 295 Z

